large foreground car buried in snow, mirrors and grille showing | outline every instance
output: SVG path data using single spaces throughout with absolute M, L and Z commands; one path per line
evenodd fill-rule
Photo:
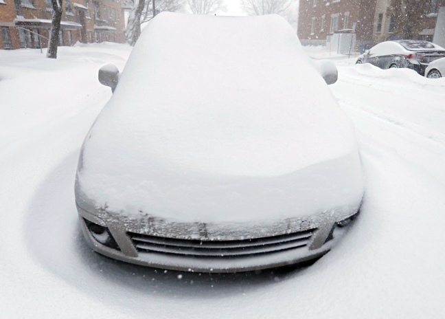
M 259 270 L 319 258 L 358 214 L 354 126 L 326 84 L 336 69 L 315 66 L 282 17 L 161 13 L 122 76 L 102 71 L 114 94 L 76 177 L 96 252 Z

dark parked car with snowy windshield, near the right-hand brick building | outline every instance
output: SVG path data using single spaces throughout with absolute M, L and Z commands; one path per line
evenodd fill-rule
M 386 41 L 374 45 L 365 54 L 358 56 L 356 64 L 371 63 L 380 69 L 406 67 L 423 76 L 429 63 L 444 56 L 443 47 L 428 41 Z

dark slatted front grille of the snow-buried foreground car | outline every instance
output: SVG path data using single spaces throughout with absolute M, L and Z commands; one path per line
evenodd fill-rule
M 314 232 L 314 230 L 233 241 L 172 239 L 160 236 L 136 234 L 133 232 L 128 232 L 128 235 L 138 252 L 233 258 L 251 254 L 267 254 L 283 250 L 303 248 L 310 241 L 312 232 Z

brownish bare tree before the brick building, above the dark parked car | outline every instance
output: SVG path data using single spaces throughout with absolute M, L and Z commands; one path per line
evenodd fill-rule
M 391 0 L 387 17 L 391 19 L 393 36 L 401 39 L 416 39 L 426 28 L 424 14 L 431 10 L 430 1 Z

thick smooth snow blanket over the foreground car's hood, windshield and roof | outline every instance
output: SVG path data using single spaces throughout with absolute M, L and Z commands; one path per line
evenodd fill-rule
M 153 19 L 78 181 L 110 210 L 194 221 L 310 214 L 362 192 L 352 123 L 277 15 Z

